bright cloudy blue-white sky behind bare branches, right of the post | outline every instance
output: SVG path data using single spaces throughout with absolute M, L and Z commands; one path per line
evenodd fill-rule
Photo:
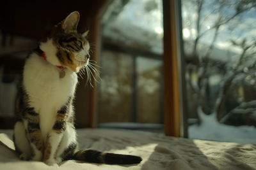
M 205 0 L 202 6 L 202 18 L 200 22 L 200 32 L 208 31 L 207 34 L 202 36 L 200 43 L 203 45 L 210 45 L 212 42 L 214 29 L 211 29 L 220 15 L 222 20 L 228 18 L 236 10 L 234 6 L 219 5 L 216 1 Z M 235 1 L 230 1 L 234 3 Z M 197 8 L 193 1 L 183 0 L 182 1 L 182 17 L 183 17 L 183 38 L 185 41 L 193 41 L 198 32 L 196 31 L 196 19 L 198 18 Z M 240 15 L 237 15 L 234 19 L 230 20 L 225 25 L 220 27 L 218 38 L 215 46 L 220 49 L 230 50 L 232 52 L 241 52 L 241 49 L 233 46 L 230 40 L 242 41 L 244 38 L 248 40 L 253 37 L 256 38 L 256 8 L 245 11 Z

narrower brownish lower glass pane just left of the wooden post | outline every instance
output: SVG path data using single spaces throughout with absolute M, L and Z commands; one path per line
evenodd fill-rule
M 161 85 L 161 60 L 138 57 L 137 120 L 140 123 L 163 124 L 163 87 Z

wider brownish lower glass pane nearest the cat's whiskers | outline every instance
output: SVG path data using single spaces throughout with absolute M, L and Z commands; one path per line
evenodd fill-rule
M 132 57 L 104 50 L 100 75 L 99 122 L 130 122 L 132 103 Z

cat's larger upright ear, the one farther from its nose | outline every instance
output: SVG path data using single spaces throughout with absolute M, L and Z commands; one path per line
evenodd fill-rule
M 79 22 L 79 12 L 74 11 L 68 15 L 68 17 L 63 20 L 61 27 L 64 31 L 71 31 L 75 30 L 77 28 L 78 22 Z

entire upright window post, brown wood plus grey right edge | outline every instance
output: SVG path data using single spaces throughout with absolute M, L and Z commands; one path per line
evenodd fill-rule
M 163 0 L 164 24 L 164 133 L 187 137 L 181 3 Z

